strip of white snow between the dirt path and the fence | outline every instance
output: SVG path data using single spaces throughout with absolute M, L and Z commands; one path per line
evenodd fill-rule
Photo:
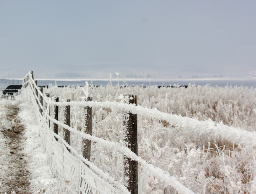
M 44 143 L 39 136 L 39 126 L 32 107 L 26 103 L 19 105 L 22 124 L 25 126 L 25 147 L 24 153 L 30 159 L 28 169 L 31 172 L 31 192 L 33 194 L 57 194 L 70 193 L 69 184 L 62 178 L 55 177 L 54 172 L 47 162 L 47 154 L 44 151 Z

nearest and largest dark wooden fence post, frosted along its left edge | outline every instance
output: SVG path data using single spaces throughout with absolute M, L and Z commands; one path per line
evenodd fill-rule
M 136 95 L 124 95 L 124 103 L 137 105 Z M 125 146 L 138 155 L 137 114 L 123 113 L 123 141 Z M 131 194 L 138 194 L 138 162 L 124 156 L 124 185 Z

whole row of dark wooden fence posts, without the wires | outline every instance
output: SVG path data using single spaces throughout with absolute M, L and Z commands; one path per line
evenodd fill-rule
M 31 77 L 33 78 L 33 71 L 30 71 Z M 23 80 L 24 83 L 28 81 L 29 77 L 28 75 Z M 37 85 L 37 80 L 34 80 L 35 84 Z M 28 86 L 28 82 L 24 85 L 26 88 Z M 38 96 L 37 89 L 32 86 L 35 90 L 36 95 Z M 39 87 L 40 91 L 43 93 L 43 87 Z M 137 96 L 136 95 L 124 95 L 128 96 L 129 102 L 128 104 L 135 104 L 137 105 Z M 46 93 L 46 97 L 50 97 L 49 93 Z M 36 99 L 36 102 L 39 106 L 39 111 L 41 114 L 43 114 L 43 110 L 41 109 L 41 106 L 43 107 L 43 97 L 39 95 L 38 97 L 39 102 Z M 59 102 L 59 97 L 52 97 L 54 102 Z M 66 102 L 70 102 L 70 99 L 66 99 Z M 84 98 L 84 101 L 92 101 L 92 97 L 86 97 Z M 59 106 L 54 105 L 54 119 L 59 120 Z M 48 110 L 48 114 L 50 113 L 50 110 Z M 84 119 L 84 126 L 82 126 L 82 132 L 88 133 L 89 135 L 92 135 L 92 107 L 84 107 L 84 113 L 83 113 L 83 119 Z M 127 118 L 128 117 L 128 118 Z M 50 127 L 50 120 L 48 120 L 48 124 Z M 70 126 L 70 105 L 65 106 L 64 108 L 64 124 Z M 128 113 L 125 115 L 124 126 L 127 127 L 127 136 L 123 140 L 127 142 L 127 147 L 132 150 L 133 153 L 138 155 L 138 135 L 137 135 L 137 114 Z M 53 131 L 58 135 L 58 125 L 54 122 L 53 123 Z M 55 137 L 56 141 L 58 141 L 58 138 Z M 63 129 L 63 139 L 70 145 L 70 131 L 68 129 Z M 82 155 L 85 159 L 90 161 L 91 158 L 91 141 L 88 139 L 82 140 Z M 68 149 L 68 148 L 67 148 Z M 70 149 L 68 149 L 70 152 Z M 126 156 L 124 156 L 124 177 L 127 177 L 127 183 L 126 187 L 129 190 L 131 194 L 138 194 L 138 162 L 134 161 Z

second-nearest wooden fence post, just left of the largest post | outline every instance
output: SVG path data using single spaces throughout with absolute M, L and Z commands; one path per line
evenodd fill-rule
M 85 97 L 84 101 L 92 101 L 92 97 Z M 92 135 L 92 108 L 87 106 L 84 107 L 83 113 L 83 125 L 82 132 Z M 90 161 L 91 158 L 91 141 L 89 139 L 82 139 L 82 155 L 85 159 Z M 88 166 L 89 167 L 89 166 Z

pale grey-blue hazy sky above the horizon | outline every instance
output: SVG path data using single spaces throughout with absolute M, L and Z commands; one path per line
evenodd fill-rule
M 0 78 L 256 71 L 256 1 L 0 0 Z

